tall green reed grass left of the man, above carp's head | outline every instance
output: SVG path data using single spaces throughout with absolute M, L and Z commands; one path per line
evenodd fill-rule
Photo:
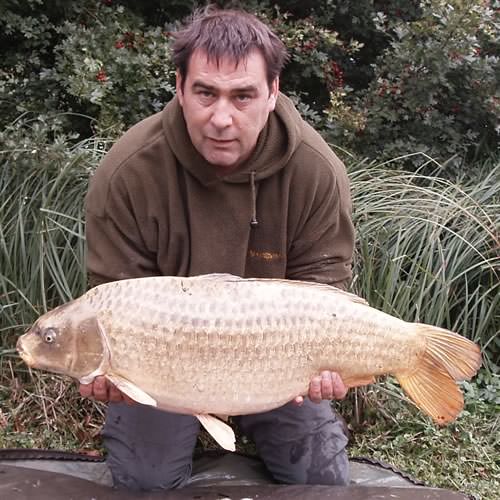
M 83 196 L 106 142 L 52 137 L 37 120 L 0 135 L 0 345 L 83 293 Z

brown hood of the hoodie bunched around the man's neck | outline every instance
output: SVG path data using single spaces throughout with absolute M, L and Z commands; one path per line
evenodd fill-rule
M 162 123 L 179 163 L 205 186 L 220 181 L 253 184 L 265 179 L 288 163 L 302 140 L 302 119 L 292 101 L 280 93 L 250 158 L 228 175 L 220 176 L 193 146 L 177 97 L 167 104 Z

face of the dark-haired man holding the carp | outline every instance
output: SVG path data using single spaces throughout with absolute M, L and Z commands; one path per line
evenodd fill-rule
M 230 171 L 251 155 L 276 104 L 278 79 L 269 89 L 257 50 L 238 66 L 231 59 L 209 62 L 196 50 L 184 85 L 177 73 L 177 96 L 194 147 L 209 163 Z

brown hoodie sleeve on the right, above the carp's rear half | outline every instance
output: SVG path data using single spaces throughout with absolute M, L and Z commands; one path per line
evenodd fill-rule
M 318 168 L 298 176 L 293 199 L 299 215 L 289 233 L 287 278 L 346 289 L 354 251 L 351 196 L 345 167 L 332 156 L 316 158 Z

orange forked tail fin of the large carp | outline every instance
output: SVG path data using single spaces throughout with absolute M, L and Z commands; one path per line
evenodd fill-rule
M 481 366 L 479 346 L 460 335 L 416 323 L 426 349 L 415 370 L 395 374 L 415 404 L 438 424 L 454 420 L 464 400 L 456 382 L 470 379 Z

